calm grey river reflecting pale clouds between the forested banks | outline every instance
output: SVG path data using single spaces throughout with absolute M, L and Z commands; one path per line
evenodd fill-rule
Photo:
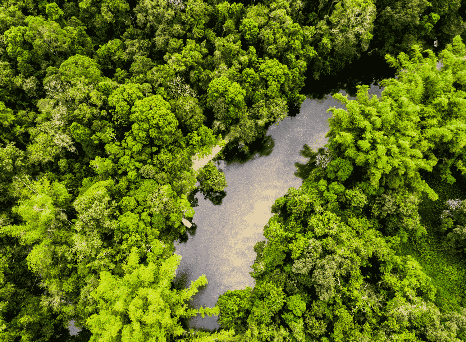
M 380 96 L 382 89 L 372 86 L 369 94 Z M 342 90 L 341 93 L 345 95 Z M 206 274 L 209 283 L 201 289 L 190 305 L 192 308 L 213 307 L 219 295 L 227 290 L 254 287 L 250 266 L 255 259 L 254 245 L 263 240 L 263 227 L 272 215 L 270 208 L 275 199 L 285 195 L 289 187 L 299 188 L 302 179 L 294 175 L 295 162 L 305 162 L 299 151 L 304 144 L 316 150 L 327 143 L 329 107 L 345 108 L 331 96 L 324 100 L 307 99 L 300 114 L 287 117 L 278 126 L 267 131 L 273 150 L 267 156 L 256 156 L 244 163 L 219 162 L 225 172 L 228 187 L 221 205 L 213 205 L 197 194 L 199 206 L 193 222 L 194 235 L 186 243 L 177 243 L 182 255 L 176 281 L 189 287 L 192 280 Z M 189 321 L 190 328 L 219 328 L 217 317 Z

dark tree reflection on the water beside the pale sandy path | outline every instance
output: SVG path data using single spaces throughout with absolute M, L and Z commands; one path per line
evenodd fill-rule
M 247 148 L 240 145 L 227 146 L 226 151 L 221 156 L 227 164 L 246 163 L 256 156 L 264 157 L 270 155 L 274 150 L 275 142 L 272 136 L 260 137 L 252 143 L 247 144 Z

